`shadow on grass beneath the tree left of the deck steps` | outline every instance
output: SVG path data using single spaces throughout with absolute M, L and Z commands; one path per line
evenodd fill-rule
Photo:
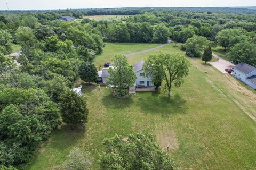
M 129 107 L 133 103 L 133 99 L 131 96 L 126 99 L 117 99 L 110 93 L 103 97 L 102 103 L 107 108 L 122 109 Z

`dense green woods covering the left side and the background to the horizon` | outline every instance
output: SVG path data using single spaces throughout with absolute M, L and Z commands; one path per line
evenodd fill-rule
M 88 111 L 84 99 L 76 98 L 69 90 L 79 74 L 87 82 L 97 79 L 97 70 L 91 62 L 103 52 L 104 41 L 167 43 L 172 39 L 184 43 L 182 49 L 189 57 L 201 57 L 204 52 L 204 61 L 209 61 L 207 54 L 211 54 L 211 47 L 219 45 L 230 61 L 255 66 L 255 13 L 235 8 L 3 12 L 0 14 L 0 164 L 17 166 L 28 162 L 40 143 L 62 122 L 70 125 L 86 122 Z M 58 20 L 64 15 L 81 19 L 83 15 L 131 16 L 123 20 L 83 19 L 81 23 Z M 21 55 L 8 57 L 15 52 L 14 46 L 21 47 Z M 89 73 L 92 76 L 88 77 Z M 71 104 L 65 97 L 79 105 L 73 103 L 74 106 L 68 107 Z M 78 112 L 83 112 L 76 113 L 78 123 L 69 117 L 70 109 L 77 107 Z

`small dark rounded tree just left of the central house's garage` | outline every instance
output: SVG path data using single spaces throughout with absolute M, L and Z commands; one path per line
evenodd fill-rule
M 89 82 L 89 84 L 98 78 L 97 69 L 92 62 L 84 62 L 79 68 L 79 75 L 83 81 Z

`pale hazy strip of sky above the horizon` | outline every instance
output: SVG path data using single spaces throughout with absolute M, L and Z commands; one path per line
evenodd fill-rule
M 0 0 L 0 10 L 48 10 L 112 7 L 256 6 L 256 0 Z

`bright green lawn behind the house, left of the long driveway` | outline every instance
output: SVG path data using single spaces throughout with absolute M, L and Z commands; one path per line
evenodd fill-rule
M 106 47 L 102 54 L 96 56 L 93 60 L 96 68 L 101 69 L 106 62 L 111 62 L 111 58 L 116 54 L 130 54 L 134 52 L 140 52 L 149 48 L 160 46 L 161 44 L 150 43 L 106 43 Z

